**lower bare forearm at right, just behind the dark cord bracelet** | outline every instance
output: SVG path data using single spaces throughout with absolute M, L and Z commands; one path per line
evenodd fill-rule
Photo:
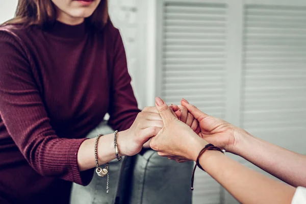
M 218 151 L 206 151 L 200 164 L 241 203 L 291 203 L 295 192 L 295 188 L 246 168 Z

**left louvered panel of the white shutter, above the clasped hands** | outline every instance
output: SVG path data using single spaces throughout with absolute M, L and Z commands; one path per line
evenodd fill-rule
M 226 24 L 226 4 L 164 1 L 161 95 L 168 104 L 185 97 L 224 117 Z M 220 203 L 220 190 L 211 176 L 196 171 L 194 203 Z

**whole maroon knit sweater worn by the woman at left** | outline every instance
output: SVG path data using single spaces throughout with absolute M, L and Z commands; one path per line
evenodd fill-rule
M 84 137 L 106 113 L 122 131 L 138 112 L 111 22 L 0 28 L 0 203 L 68 203 L 93 175 L 78 168 Z

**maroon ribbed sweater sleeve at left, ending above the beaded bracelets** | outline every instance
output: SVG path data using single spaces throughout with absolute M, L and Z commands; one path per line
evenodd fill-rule
M 20 38 L 0 31 L 0 116 L 24 158 L 39 174 L 87 185 L 93 171 L 80 172 L 77 161 L 85 139 L 56 135 L 28 56 Z

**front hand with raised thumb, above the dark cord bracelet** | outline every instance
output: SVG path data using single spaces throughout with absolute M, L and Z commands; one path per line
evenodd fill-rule
M 196 160 L 199 151 L 208 143 L 198 137 L 187 124 L 177 119 L 175 113 L 158 97 L 156 106 L 164 126 L 151 138 L 151 148 L 158 151 L 160 156 L 170 159 Z

